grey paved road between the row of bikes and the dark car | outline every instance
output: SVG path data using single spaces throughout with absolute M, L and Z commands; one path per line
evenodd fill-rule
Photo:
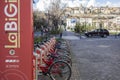
M 120 38 L 83 38 L 64 32 L 70 41 L 79 80 L 120 80 Z

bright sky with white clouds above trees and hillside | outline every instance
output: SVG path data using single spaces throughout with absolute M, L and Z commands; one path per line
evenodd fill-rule
M 36 0 L 33 8 L 40 11 L 45 11 L 49 6 L 51 0 Z M 62 0 L 62 3 L 66 3 L 68 7 L 79 7 L 81 4 L 86 7 L 94 6 L 109 6 L 120 7 L 120 0 Z

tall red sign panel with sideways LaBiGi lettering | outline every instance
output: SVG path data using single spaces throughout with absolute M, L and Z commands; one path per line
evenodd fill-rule
M 32 0 L 0 0 L 0 80 L 33 80 Z

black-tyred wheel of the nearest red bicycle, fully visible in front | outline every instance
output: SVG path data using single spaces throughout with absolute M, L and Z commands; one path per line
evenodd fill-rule
M 52 80 L 70 80 L 71 67 L 64 61 L 57 61 L 50 66 L 49 75 Z

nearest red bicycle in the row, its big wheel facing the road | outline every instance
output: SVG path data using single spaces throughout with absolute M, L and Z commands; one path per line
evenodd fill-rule
M 43 50 L 39 49 L 39 51 L 42 52 Z M 47 55 L 47 58 L 38 58 L 38 60 L 41 59 L 44 64 L 41 65 L 40 62 L 38 62 L 37 69 L 41 70 L 43 75 L 49 76 L 52 80 L 69 80 L 72 73 L 71 66 L 63 60 L 55 61 L 56 58 L 54 55 Z

